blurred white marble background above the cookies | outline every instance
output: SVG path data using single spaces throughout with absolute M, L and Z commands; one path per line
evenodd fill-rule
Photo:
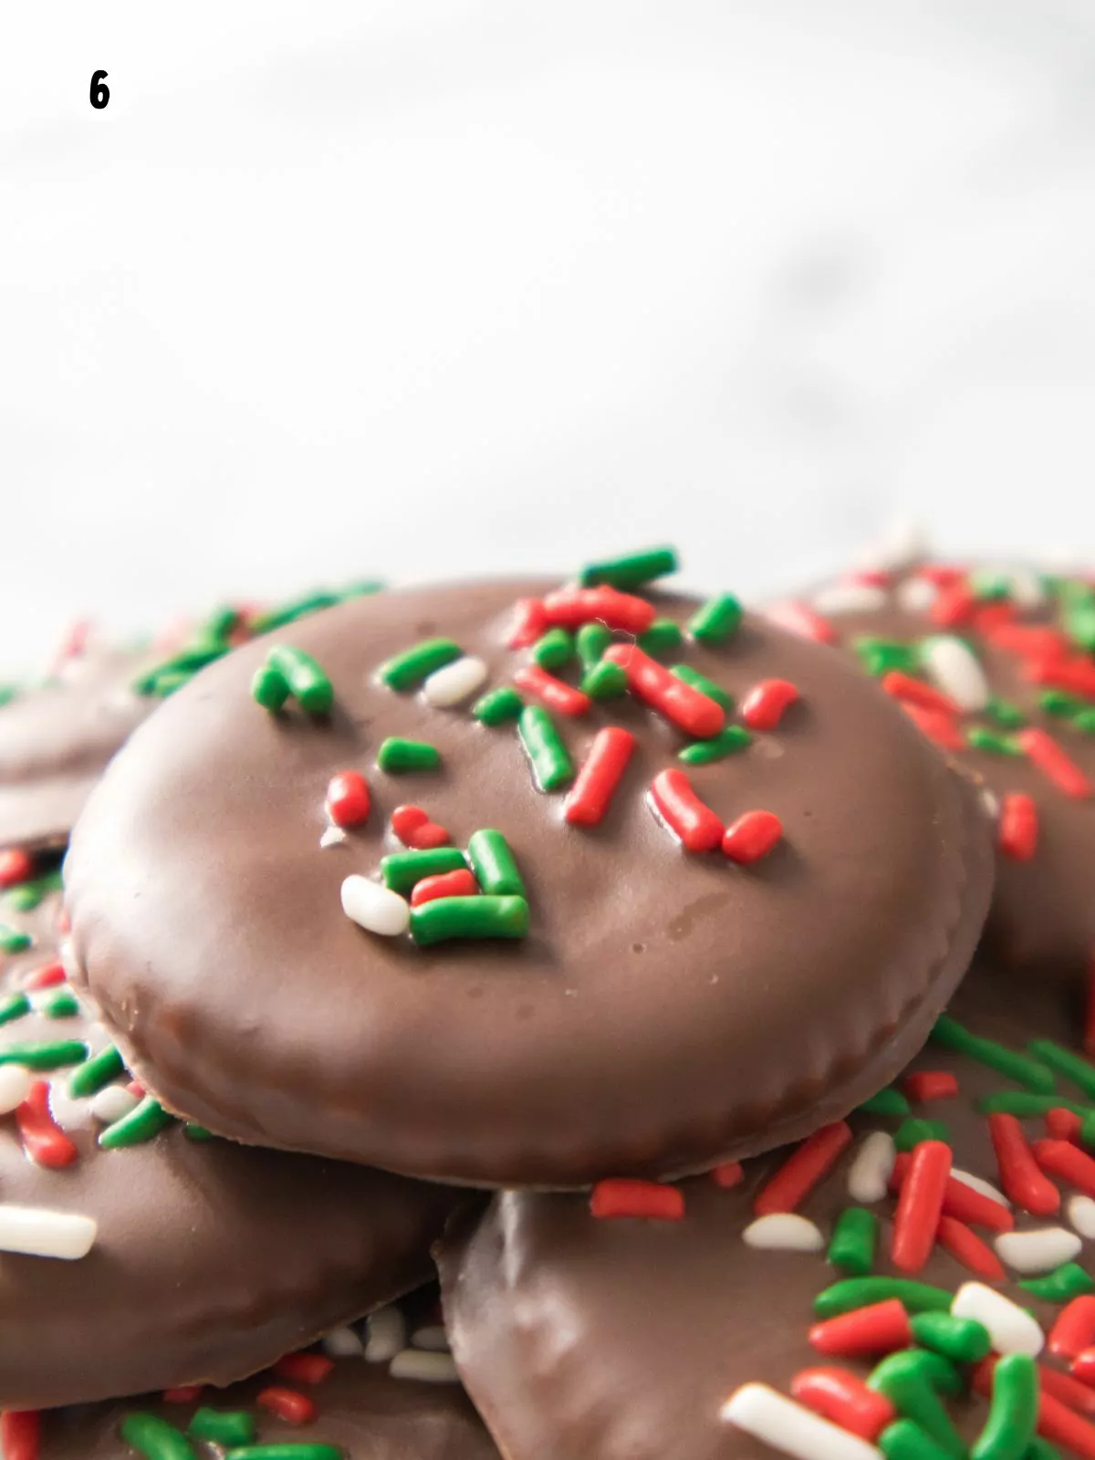
M 1095 550 L 1091 0 L 53 0 L 0 54 L 3 661 L 664 537 L 759 593 L 907 512 Z

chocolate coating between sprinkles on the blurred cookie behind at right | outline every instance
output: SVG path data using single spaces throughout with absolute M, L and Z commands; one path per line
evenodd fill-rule
M 962 620 L 953 628 L 931 622 L 930 609 L 914 613 L 902 607 L 898 594 L 917 575 L 917 568 L 894 574 L 880 590 L 885 603 L 869 613 L 829 618 L 840 642 L 851 648 L 861 635 L 877 635 L 914 644 L 927 634 L 958 634 L 971 644 L 994 695 L 1018 705 L 1031 726 L 1048 731 L 1082 771 L 1095 780 L 1095 734 L 1073 729 L 1066 720 L 1040 708 L 1041 685 L 1025 673 L 1018 654 L 999 647 Z M 1016 623 L 1058 628 L 1058 604 L 1016 606 Z M 1095 657 L 1086 657 L 1095 669 Z M 984 714 L 964 715 L 962 729 L 980 726 L 997 733 L 1000 726 Z M 986 927 L 993 955 L 1009 967 L 1080 977 L 1095 959 L 1095 898 L 1091 895 L 1091 863 L 1095 857 L 1095 799 L 1077 800 L 1051 784 L 1022 755 L 996 755 L 969 746 L 948 752 L 967 774 L 972 774 L 997 797 L 1022 793 L 1038 807 L 1038 844 L 1029 861 L 1000 854 L 996 895 Z

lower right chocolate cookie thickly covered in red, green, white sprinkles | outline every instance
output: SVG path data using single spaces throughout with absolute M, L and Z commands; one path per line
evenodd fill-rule
M 1095 1352 L 1079 1028 L 1060 988 L 975 969 L 905 1077 L 803 1146 L 676 1187 L 495 1194 L 439 1266 L 502 1453 L 936 1460 L 969 1454 L 994 1393 L 975 1456 L 1095 1454 L 1070 1372 Z M 1060 1451 L 1028 1448 L 1038 1386 Z

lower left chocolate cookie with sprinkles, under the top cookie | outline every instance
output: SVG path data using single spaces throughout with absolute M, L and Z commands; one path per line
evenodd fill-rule
M 228 1383 L 426 1276 L 451 1188 L 174 1120 L 80 1009 L 57 915 L 0 927 L 0 1405 Z

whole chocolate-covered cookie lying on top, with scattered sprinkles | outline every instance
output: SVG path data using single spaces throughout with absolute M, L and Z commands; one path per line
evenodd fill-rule
M 975 794 L 837 656 L 730 597 L 549 583 L 390 593 L 210 666 L 66 866 L 79 977 L 172 1110 L 562 1187 L 870 1095 L 990 877 Z

